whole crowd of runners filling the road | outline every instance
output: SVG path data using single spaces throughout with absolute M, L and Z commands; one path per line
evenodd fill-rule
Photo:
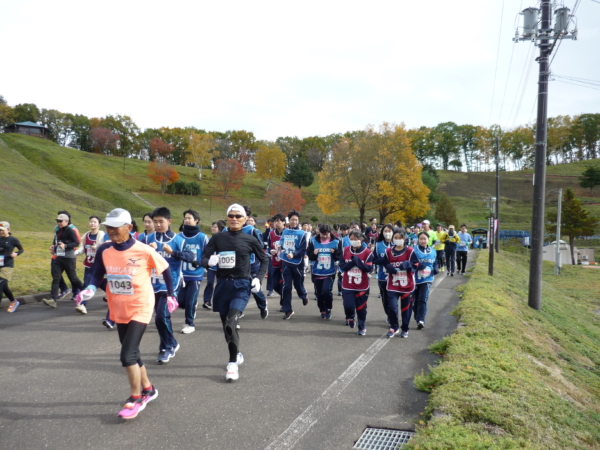
M 131 389 L 120 417 L 136 417 L 158 395 L 139 349 L 152 316 L 160 338 L 157 362 L 167 364 L 180 348 L 171 314 L 177 308 L 184 309 L 181 332 L 195 331 L 204 279 L 202 305 L 220 316 L 229 353 L 225 379 L 235 381 L 244 362 L 239 320 L 251 296 L 262 319 L 269 315 L 267 297 L 275 295 L 279 297 L 282 318 L 291 319 L 295 290 L 304 306 L 313 296 L 320 317 L 331 320 L 337 276 L 345 324 L 364 336 L 370 279 L 376 276 L 389 324 L 387 336 L 400 334 L 407 338 L 411 318 L 417 329 L 425 327 L 434 276 L 444 264 L 448 275 L 454 275 L 454 255 L 459 252 L 465 252 L 458 259 L 458 271 L 464 274 L 466 252 L 472 242 L 464 225 L 460 233 L 452 225 L 448 229 L 438 225 L 438 231 L 433 231 L 427 220 L 410 228 L 401 224 L 379 226 L 372 219 L 371 225 L 362 224 L 362 229 L 352 222 L 333 228 L 320 224 L 312 231 L 310 224 L 300 224 L 300 213 L 292 210 L 275 214 L 261 232 L 248 207 L 232 204 L 226 215 L 226 221 L 212 224 L 213 234 L 208 238 L 200 230 L 196 211 L 183 213 L 183 223 L 176 233 L 171 229 L 170 210 L 160 207 L 144 216 L 145 231 L 138 234 L 130 213 L 117 208 L 102 223 L 99 217 L 90 217 L 90 230 L 80 238 L 68 212 L 59 212 L 50 247 L 52 291 L 43 302 L 56 308 L 57 300 L 68 293 L 63 273 L 72 284 L 75 309 L 81 314 L 87 313 L 86 303 L 99 289 L 105 292 L 108 311 L 103 324 L 118 331 L 121 363 Z M 100 230 L 100 225 L 106 232 Z M 11 300 L 8 312 L 18 307 L 8 281 L 14 258 L 22 252 L 18 240 L 10 236 L 9 224 L 0 222 L 0 293 L 3 291 Z M 79 254 L 85 258 L 83 282 L 75 270 Z M 267 273 L 265 295 L 262 280 Z M 304 286 L 307 273 L 313 283 L 311 294 Z

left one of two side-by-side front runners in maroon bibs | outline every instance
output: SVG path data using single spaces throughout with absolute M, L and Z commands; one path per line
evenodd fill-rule
M 363 234 L 354 228 L 348 235 L 350 246 L 344 248 L 340 269 L 343 271 L 342 298 L 346 313 L 346 325 L 354 328 L 358 319 L 358 335 L 367 334 L 367 299 L 370 280 L 367 276 L 373 271 L 373 253 L 362 241 Z

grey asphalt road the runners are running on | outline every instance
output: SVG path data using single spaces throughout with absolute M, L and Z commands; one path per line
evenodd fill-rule
M 159 396 L 131 421 L 116 416 L 129 389 L 116 330 L 101 325 L 104 302 L 93 299 L 87 315 L 69 300 L 7 314 L 4 300 L 0 449 L 350 449 L 366 426 L 410 430 L 427 401 L 413 377 L 436 361 L 428 346 L 456 328 L 449 312 L 465 281 L 438 275 L 426 328 L 411 324 L 408 339 L 385 337 L 374 279 L 364 337 L 344 325 L 341 297 L 330 321 L 297 297 L 291 320 L 281 320 L 275 297 L 261 320 L 251 300 L 240 330 L 246 361 L 234 383 L 225 381 L 217 314 L 199 309 L 196 332 L 183 335 L 179 310 L 181 349 L 167 365 L 156 363 L 154 324 L 144 335 L 142 359 Z

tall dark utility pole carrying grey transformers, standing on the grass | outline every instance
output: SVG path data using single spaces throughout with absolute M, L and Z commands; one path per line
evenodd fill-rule
M 541 10 L 541 21 L 538 20 L 538 13 Z M 569 23 L 573 16 L 569 15 L 569 9 L 566 7 L 557 8 L 556 25 L 552 25 L 552 2 L 550 0 L 541 0 L 540 10 L 537 8 L 527 8 L 521 12 L 523 14 L 523 34 L 519 35 L 517 30 L 514 40 L 526 41 L 532 40 L 539 42 L 540 73 L 538 78 L 538 99 L 537 99 L 537 124 L 535 135 L 535 163 L 533 175 L 533 214 L 531 227 L 531 258 L 529 265 L 529 298 L 528 304 L 531 308 L 540 310 L 542 308 L 542 259 L 544 251 L 544 220 L 545 220 L 545 200 L 546 200 L 546 140 L 547 140 L 547 115 L 548 115 L 548 80 L 550 75 L 550 54 L 560 39 L 577 39 L 577 28 L 570 33 L 568 31 Z M 538 23 L 540 29 L 538 32 Z

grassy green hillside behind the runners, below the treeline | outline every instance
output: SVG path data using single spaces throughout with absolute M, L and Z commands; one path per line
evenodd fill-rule
M 77 224 L 87 223 L 92 214 L 102 216 L 113 207 L 129 209 L 134 217 L 141 216 L 152 206 L 168 206 L 175 217 L 187 208 L 201 213 L 202 224 L 224 216 L 227 205 L 239 201 L 250 205 L 253 213 L 264 219 L 269 215 L 268 205 L 263 201 L 266 183 L 248 174 L 239 191 L 224 199 L 212 171 L 204 170 L 199 196 L 161 195 L 158 186 L 147 176 L 146 161 L 96 155 L 60 147 L 48 140 L 18 134 L 0 135 L 0 152 L 5 175 L 0 182 L 0 201 L 3 217 L 11 221 L 15 229 L 41 231 L 54 224 L 54 214 L 67 209 Z M 589 197 L 589 190 L 579 187 L 577 175 L 586 162 L 551 166 L 547 168 L 548 207 L 556 204 L 558 188 L 575 190 L 586 209 L 600 215 L 600 194 Z M 191 167 L 177 167 L 180 179 L 197 181 L 198 171 Z M 495 195 L 494 172 L 439 171 L 438 192 L 448 194 L 454 203 L 458 220 L 471 228 L 484 226 L 488 210 L 483 200 Z M 533 172 L 501 172 L 500 218 L 503 229 L 528 230 L 531 225 L 533 197 Z M 315 182 L 303 189 L 307 201 L 304 217 L 325 219 L 315 203 L 319 186 Z M 367 217 L 377 216 L 368 211 Z M 344 209 L 329 222 L 345 222 L 356 219 L 356 211 Z M 85 227 L 84 227 L 85 228 Z

